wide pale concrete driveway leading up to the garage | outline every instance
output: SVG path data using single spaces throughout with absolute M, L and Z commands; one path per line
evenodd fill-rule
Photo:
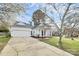
M 1 56 L 73 56 L 32 37 L 11 38 Z

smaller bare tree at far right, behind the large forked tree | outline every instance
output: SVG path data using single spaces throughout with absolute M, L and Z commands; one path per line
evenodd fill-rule
M 65 17 L 64 26 L 69 27 L 71 39 L 74 40 L 73 33 L 75 32 L 75 30 L 78 29 L 77 26 L 79 26 L 79 11 L 74 9 L 74 11 L 71 14 Z

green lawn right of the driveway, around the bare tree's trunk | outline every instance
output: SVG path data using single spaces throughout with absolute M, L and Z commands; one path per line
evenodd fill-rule
M 48 43 L 52 46 L 56 46 L 58 47 L 57 43 L 58 43 L 58 37 L 52 37 L 52 38 L 49 38 L 48 40 L 41 40 L 45 43 Z M 71 40 L 71 38 L 62 38 L 62 46 L 64 48 L 65 51 L 73 54 L 73 55 L 76 55 L 76 56 L 79 56 L 79 38 L 75 38 L 75 40 Z

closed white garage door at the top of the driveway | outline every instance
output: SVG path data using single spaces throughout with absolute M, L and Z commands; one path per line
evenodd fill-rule
M 28 36 L 31 36 L 31 32 L 29 32 L 29 31 L 12 31 L 11 36 L 13 36 L 13 37 L 28 37 Z

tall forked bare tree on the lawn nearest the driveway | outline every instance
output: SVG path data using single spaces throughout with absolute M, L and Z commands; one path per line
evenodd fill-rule
M 59 36 L 58 44 L 60 45 L 60 48 L 62 48 L 63 25 L 64 25 L 64 21 L 65 21 L 64 18 L 68 15 L 68 12 L 70 11 L 70 7 L 72 4 L 71 3 L 67 3 L 67 4 L 66 3 L 63 3 L 63 4 L 52 4 L 52 3 L 50 4 L 49 3 L 48 5 L 51 6 L 51 8 L 49 8 L 48 10 L 51 9 L 52 15 L 53 15 L 53 13 L 56 12 L 56 14 L 59 16 L 58 19 L 60 20 L 60 26 L 57 25 L 57 27 L 59 28 L 60 36 Z M 54 20 L 55 19 L 56 18 L 54 18 Z

